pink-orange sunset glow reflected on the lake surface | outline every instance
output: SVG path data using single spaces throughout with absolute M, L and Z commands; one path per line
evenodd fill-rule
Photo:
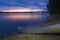
M 11 15 L 5 15 L 4 18 L 7 20 L 36 20 L 38 18 L 41 18 L 42 15 L 38 14 L 26 14 L 26 13 L 19 13 L 19 14 L 11 14 Z

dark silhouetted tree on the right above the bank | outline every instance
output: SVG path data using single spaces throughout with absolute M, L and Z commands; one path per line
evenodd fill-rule
M 60 0 L 49 0 L 47 8 L 51 15 L 56 15 L 60 19 Z

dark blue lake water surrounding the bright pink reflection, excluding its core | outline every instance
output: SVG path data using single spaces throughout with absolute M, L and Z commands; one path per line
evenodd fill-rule
M 46 18 L 50 16 L 49 13 L 20 13 L 20 14 L 27 14 L 27 15 L 32 15 L 30 19 L 27 20 L 20 20 L 20 19 L 5 19 L 5 16 L 9 16 L 12 14 L 19 14 L 19 13 L 0 13 L 0 36 L 4 35 L 10 35 L 14 32 L 18 32 L 17 27 L 19 26 L 30 26 L 30 25 L 35 25 L 37 23 L 43 22 Z M 38 15 L 36 19 L 34 19 L 33 15 Z

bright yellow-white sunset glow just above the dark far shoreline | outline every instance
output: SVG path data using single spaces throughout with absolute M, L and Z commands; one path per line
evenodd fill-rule
M 5 9 L 1 10 L 1 12 L 39 12 L 39 11 L 44 11 L 43 9 Z

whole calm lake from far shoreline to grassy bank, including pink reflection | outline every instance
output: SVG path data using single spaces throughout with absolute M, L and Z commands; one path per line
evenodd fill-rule
M 19 26 L 31 26 L 42 23 L 49 13 L 0 13 L 0 37 L 18 32 Z

